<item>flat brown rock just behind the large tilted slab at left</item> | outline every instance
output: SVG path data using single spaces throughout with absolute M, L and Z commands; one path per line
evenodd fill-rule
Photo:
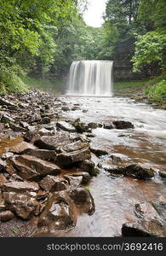
M 54 162 L 56 160 L 56 153 L 54 150 L 30 148 L 25 151 L 25 154 L 36 156 L 37 158 L 40 158 L 42 160 L 49 160 Z

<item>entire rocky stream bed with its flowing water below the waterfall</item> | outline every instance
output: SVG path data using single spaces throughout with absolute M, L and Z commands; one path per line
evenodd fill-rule
M 39 90 L 0 105 L 0 236 L 166 236 L 162 110 Z

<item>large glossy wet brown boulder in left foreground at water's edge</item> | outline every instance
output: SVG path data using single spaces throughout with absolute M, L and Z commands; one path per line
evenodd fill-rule
M 49 233 L 71 229 L 77 223 L 75 208 L 66 190 L 55 192 L 49 196 L 48 205 L 39 218 L 38 227 Z

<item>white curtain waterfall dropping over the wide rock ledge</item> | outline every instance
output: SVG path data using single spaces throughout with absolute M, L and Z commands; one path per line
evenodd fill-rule
M 69 95 L 112 96 L 113 61 L 73 61 L 69 79 Z

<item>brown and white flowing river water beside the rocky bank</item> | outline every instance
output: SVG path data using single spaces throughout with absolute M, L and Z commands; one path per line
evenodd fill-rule
M 91 142 L 125 161 L 149 164 L 156 171 L 156 176 L 150 181 L 131 177 L 112 178 L 108 172 L 100 170 L 100 174 L 89 183 L 95 203 L 94 214 L 79 216 L 73 230 L 44 236 L 121 236 L 122 224 L 135 222 L 136 203 L 166 196 L 166 181 L 157 174 L 158 170 L 166 171 L 166 111 L 123 97 L 60 96 L 60 100 L 69 107 L 79 104 L 81 108 L 63 113 L 66 119 L 132 122 L 135 125 L 133 131 L 97 128 L 93 131 L 95 137 L 90 138 Z M 83 109 L 88 112 L 83 113 Z M 94 160 L 97 163 L 102 158 Z

